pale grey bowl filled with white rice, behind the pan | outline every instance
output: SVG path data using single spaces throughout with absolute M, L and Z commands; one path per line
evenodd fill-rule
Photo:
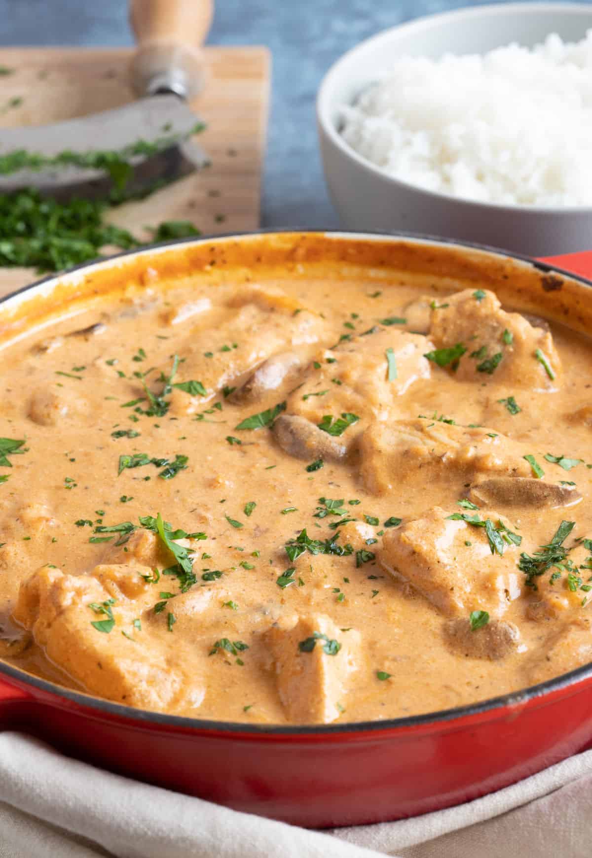
M 480 6 L 379 33 L 329 69 L 317 122 L 347 229 L 592 247 L 592 5 Z

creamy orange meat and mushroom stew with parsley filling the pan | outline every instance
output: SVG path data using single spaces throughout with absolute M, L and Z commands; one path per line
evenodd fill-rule
M 165 286 L 3 348 L 6 661 L 258 723 L 589 662 L 588 341 L 419 275 Z

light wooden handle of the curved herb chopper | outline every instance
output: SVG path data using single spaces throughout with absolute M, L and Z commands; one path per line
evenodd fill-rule
M 174 93 L 191 98 L 204 85 L 201 45 L 214 0 L 130 0 L 137 39 L 131 84 L 138 95 Z

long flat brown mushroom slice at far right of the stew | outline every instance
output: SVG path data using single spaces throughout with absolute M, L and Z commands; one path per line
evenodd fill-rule
M 478 506 L 538 506 L 555 509 L 574 506 L 582 495 L 574 486 L 535 480 L 534 477 L 491 477 L 471 486 L 468 497 Z

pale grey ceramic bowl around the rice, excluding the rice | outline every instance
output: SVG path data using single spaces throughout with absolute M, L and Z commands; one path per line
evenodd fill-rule
M 579 41 L 589 27 L 592 5 L 502 3 L 419 18 L 341 57 L 321 83 L 317 122 L 329 193 L 344 227 L 427 233 L 530 256 L 590 250 L 592 207 L 494 205 L 423 190 L 388 176 L 339 134 L 341 106 L 353 103 L 396 56 L 484 53 L 512 41 L 532 46 L 548 33 Z

